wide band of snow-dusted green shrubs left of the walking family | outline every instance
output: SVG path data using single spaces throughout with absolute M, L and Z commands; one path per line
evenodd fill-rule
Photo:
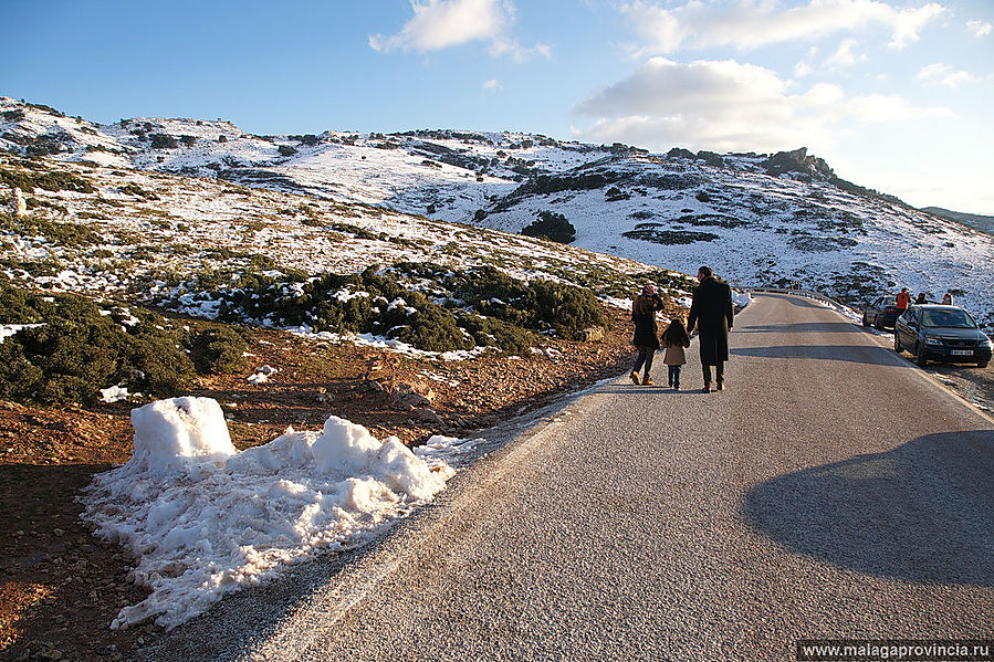
M 605 324 L 592 291 L 525 282 L 494 267 L 451 272 L 432 263 L 398 263 L 381 272 L 370 267 L 313 279 L 247 273 L 223 286 L 192 291 L 220 303 L 222 322 L 372 333 L 432 351 L 474 346 L 524 351 L 535 344 L 534 332 L 580 338 L 585 328 Z

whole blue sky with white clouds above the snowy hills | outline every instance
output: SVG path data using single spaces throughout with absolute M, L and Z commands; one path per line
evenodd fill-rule
M 994 214 L 990 0 L 0 0 L 0 94 L 98 122 L 806 146 L 911 204 Z

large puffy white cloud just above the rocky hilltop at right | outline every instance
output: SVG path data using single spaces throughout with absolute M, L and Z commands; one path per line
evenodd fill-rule
M 952 115 L 898 96 L 847 96 L 825 83 L 791 90 L 775 72 L 752 64 L 653 57 L 576 111 L 596 117 L 584 133 L 595 141 L 725 151 L 824 148 L 870 123 Z

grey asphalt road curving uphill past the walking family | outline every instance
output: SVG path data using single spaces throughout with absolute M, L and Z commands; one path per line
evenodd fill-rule
M 793 660 L 798 639 L 994 638 L 994 421 L 806 300 L 760 296 L 732 355 L 721 392 L 700 392 L 694 344 L 683 391 L 625 377 L 573 401 L 219 656 Z

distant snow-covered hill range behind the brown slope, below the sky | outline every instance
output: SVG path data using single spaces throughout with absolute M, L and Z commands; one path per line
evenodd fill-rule
M 743 285 L 798 282 L 851 304 L 946 290 L 994 325 L 994 238 L 840 180 L 798 150 L 667 155 L 471 132 L 252 136 L 227 122 L 96 125 L 0 99 L 0 148 L 220 178 L 519 232 L 563 214 L 575 245 Z

